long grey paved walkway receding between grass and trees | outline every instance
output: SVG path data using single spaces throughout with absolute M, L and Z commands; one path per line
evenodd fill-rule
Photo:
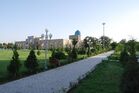
M 0 85 L 0 93 L 64 93 L 113 51 Z

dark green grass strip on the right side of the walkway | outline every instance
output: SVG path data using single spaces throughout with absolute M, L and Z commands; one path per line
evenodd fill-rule
M 68 93 L 121 93 L 119 85 L 122 73 L 119 62 L 102 62 Z

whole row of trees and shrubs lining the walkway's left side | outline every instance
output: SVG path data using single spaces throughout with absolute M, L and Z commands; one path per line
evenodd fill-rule
M 96 37 L 87 36 L 83 40 L 83 43 L 80 47 L 76 47 L 78 43 L 79 43 L 78 40 L 73 39 L 72 40 L 73 47 L 68 47 L 65 49 L 65 51 L 68 54 L 69 62 L 77 60 L 78 54 L 84 54 L 84 55 L 87 54 L 88 56 L 90 56 L 92 53 L 96 53 L 98 51 L 111 48 L 110 47 L 111 39 L 107 36 L 104 37 L 102 36 L 99 39 L 97 39 Z M 13 49 L 13 57 L 7 69 L 10 73 L 10 76 L 17 77 L 19 75 L 20 68 L 22 65 L 20 63 L 19 54 L 17 52 L 18 49 L 17 46 L 15 45 L 14 47 L 12 47 L 12 49 Z M 40 51 L 38 51 L 37 54 L 39 55 Z M 60 65 L 59 60 L 62 58 L 67 58 L 64 52 L 52 49 L 52 56 L 50 57 L 49 62 L 52 64 L 53 67 L 59 66 Z M 30 51 L 26 61 L 24 62 L 24 66 L 28 69 L 28 72 L 30 74 L 37 72 L 39 64 L 34 50 Z

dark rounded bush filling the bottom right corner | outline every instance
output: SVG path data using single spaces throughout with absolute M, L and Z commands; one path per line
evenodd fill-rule
M 125 68 L 121 82 L 122 93 L 139 93 L 139 63 L 130 62 Z

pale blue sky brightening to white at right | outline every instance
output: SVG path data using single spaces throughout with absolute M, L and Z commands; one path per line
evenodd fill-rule
M 0 0 L 0 42 L 41 36 L 68 39 L 80 30 L 86 36 L 105 35 L 139 40 L 139 0 Z

